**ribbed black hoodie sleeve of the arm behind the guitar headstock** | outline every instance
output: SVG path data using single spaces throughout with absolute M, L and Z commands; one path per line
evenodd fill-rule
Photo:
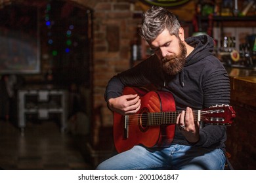
M 230 82 L 223 65 L 215 64 L 217 59 L 209 63 L 207 74 L 203 83 L 204 107 L 213 105 L 229 105 L 230 103 Z M 212 65 L 211 65 L 212 64 Z M 217 66 L 216 66 L 217 65 Z M 211 69 L 209 69 L 211 68 Z M 197 146 L 210 147 L 213 144 L 226 141 L 226 127 L 224 125 L 205 124 L 200 130 L 200 141 Z

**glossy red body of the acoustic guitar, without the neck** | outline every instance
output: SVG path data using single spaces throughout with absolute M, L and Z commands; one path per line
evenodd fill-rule
M 123 95 L 138 94 L 141 107 L 135 115 L 122 116 L 114 112 L 114 144 L 117 152 L 123 152 L 142 144 L 148 148 L 166 147 L 175 134 L 173 125 L 146 125 L 144 114 L 175 111 L 175 100 L 168 92 L 148 92 L 141 88 L 125 87 Z

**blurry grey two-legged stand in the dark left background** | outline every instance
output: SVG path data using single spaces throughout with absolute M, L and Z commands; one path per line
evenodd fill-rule
M 66 129 L 68 119 L 67 90 L 18 90 L 18 127 L 24 131 L 27 114 L 36 114 L 38 120 L 49 120 L 51 114 L 60 116 L 60 130 Z

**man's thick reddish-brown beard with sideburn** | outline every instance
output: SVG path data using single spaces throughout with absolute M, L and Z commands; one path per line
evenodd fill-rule
M 167 75 L 177 75 L 184 67 L 186 62 L 186 46 L 179 42 L 180 52 L 173 56 L 165 56 L 161 59 L 161 67 Z

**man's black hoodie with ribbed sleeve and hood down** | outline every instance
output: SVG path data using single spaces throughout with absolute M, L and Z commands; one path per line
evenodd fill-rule
M 104 97 L 122 95 L 125 86 L 146 86 L 153 84 L 158 90 L 171 92 L 177 110 L 191 107 L 193 110 L 213 105 L 229 104 L 230 82 L 219 59 L 213 56 L 213 39 L 208 35 L 190 37 L 185 40 L 194 50 L 186 58 L 182 71 L 176 76 L 164 75 L 156 55 L 142 61 L 139 65 L 114 76 Z M 175 130 L 173 144 L 186 144 L 204 148 L 222 148 L 226 141 L 226 127 L 205 124 L 200 129 L 200 141 L 190 144 L 181 132 Z

